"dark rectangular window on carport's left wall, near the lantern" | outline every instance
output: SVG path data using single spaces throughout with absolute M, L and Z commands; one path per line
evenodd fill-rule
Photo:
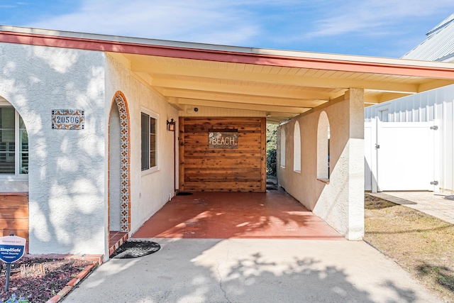
M 142 113 L 141 141 L 142 141 L 142 170 L 157 167 L 157 116 Z

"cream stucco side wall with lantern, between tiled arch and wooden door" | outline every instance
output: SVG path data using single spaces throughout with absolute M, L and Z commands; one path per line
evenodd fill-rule
M 107 55 L 106 119 L 109 116 L 112 99 L 118 91 L 126 97 L 131 121 L 130 191 L 131 231 L 133 232 L 168 202 L 174 194 L 174 133 L 167 131 L 167 119 L 170 120 L 173 117 L 175 121 L 178 121 L 178 111 L 152 89 L 145 87 L 131 77 L 131 72 L 120 62 Z M 140 113 L 143 109 L 148 109 L 159 115 L 157 122 L 158 170 L 151 173 L 143 173 L 140 170 Z M 178 184 L 178 180 L 176 184 Z

